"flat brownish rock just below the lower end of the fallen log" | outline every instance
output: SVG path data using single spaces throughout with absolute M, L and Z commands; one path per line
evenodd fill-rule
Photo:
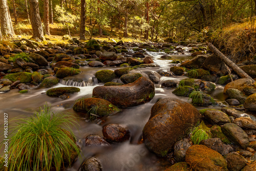
M 250 87 L 252 84 L 253 84 L 252 80 L 248 78 L 240 78 L 227 83 L 223 90 L 223 93 L 226 93 L 226 91 L 230 88 L 243 91 L 243 89 Z

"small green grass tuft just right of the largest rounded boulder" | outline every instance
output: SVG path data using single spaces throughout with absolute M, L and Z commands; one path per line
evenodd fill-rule
M 198 126 L 190 127 L 189 132 L 191 133 L 190 139 L 194 144 L 199 144 L 202 140 L 211 138 L 210 129 L 203 121 Z

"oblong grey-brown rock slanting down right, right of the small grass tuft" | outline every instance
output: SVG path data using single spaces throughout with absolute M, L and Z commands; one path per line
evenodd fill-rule
M 240 145 L 242 148 L 249 146 L 248 135 L 240 126 L 234 123 L 225 123 L 221 130 L 231 142 Z

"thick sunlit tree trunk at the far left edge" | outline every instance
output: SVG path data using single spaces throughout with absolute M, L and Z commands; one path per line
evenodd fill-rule
M 3 36 L 13 37 L 15 35 L 12 19 L 9 11 L 9 7 L 7 4 L 7 0 L 0 1 L 0 18 L 1 18 L 1 32 Z

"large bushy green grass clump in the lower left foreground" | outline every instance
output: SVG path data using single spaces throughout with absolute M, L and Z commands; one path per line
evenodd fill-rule
M 29 119 L 19 119 L 9 138 L 8 170 L 60 170 L 79 154 L 74 134 L 74 118 L 53 113 L 45 105 Z

